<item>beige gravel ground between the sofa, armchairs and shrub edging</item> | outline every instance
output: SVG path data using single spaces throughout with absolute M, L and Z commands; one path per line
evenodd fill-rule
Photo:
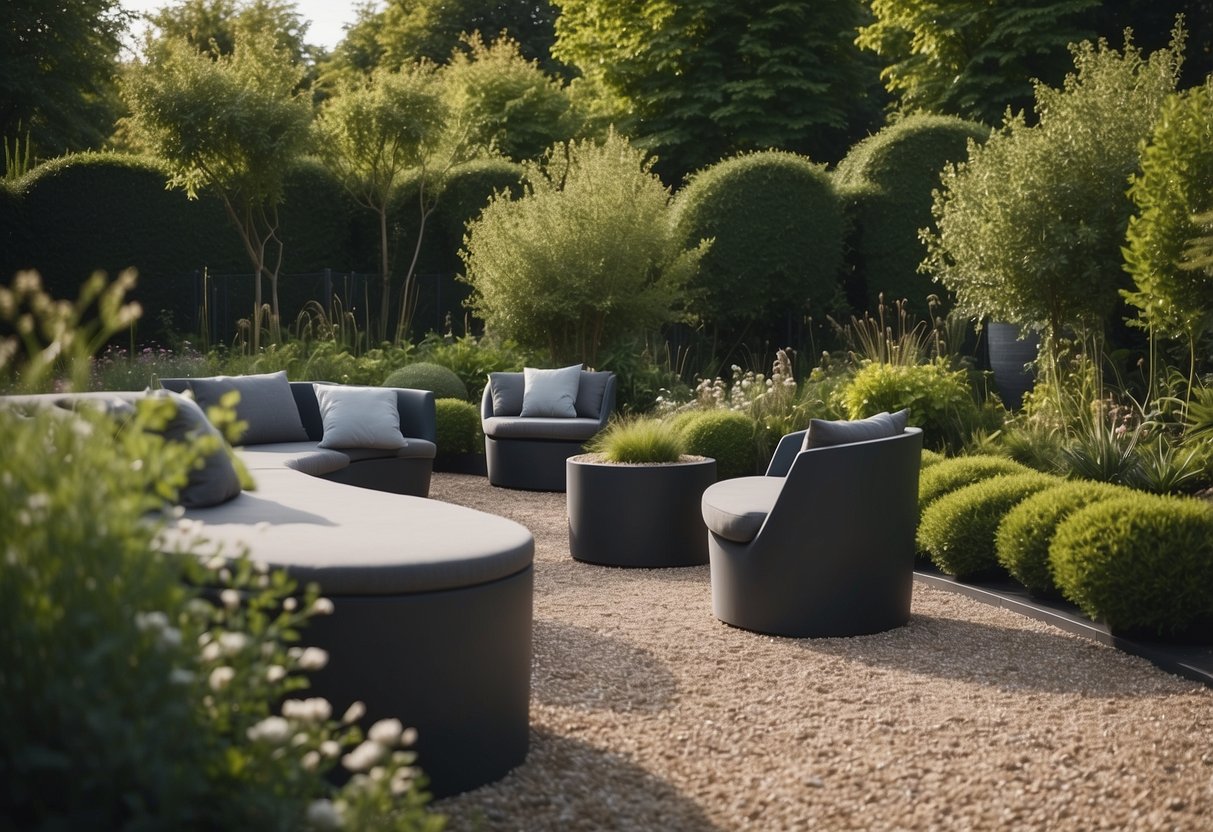
M 450 828 L 1213 830 L 1213 690 L 1145 660 L 917 585 L 888 633 L 759 636 L 707 566 L 574 562 L 563 494 L 431 496 L 536 545 L 530 753 Z

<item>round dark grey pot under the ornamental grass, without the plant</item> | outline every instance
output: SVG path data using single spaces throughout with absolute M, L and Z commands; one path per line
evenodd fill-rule
M 716 481 L 716 460 L 616 465 L 582 454 L 565 462 L 565 472 L 574 559 L 647 568 L 707 563 L 700 500 Z

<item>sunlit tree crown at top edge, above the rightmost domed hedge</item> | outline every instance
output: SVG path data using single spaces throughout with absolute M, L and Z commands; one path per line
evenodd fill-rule
M 1089 39 L 1098 0 L 872 0 L 876 21 L 856 42 L 884 62 L 898 109 L 986 124 L 1029 108 L 1032 79 L 1057 84 L 1066 47 Z

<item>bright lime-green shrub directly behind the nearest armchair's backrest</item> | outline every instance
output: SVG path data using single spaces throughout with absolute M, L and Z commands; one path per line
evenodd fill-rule
M 909 409 L 910 424 L 921 427 L 927 446 L 935 450 L 959 448 L 983 418 L 966 371 L 949 370 L 941 363 L 867 364 L 842 398 L 849 418 Z

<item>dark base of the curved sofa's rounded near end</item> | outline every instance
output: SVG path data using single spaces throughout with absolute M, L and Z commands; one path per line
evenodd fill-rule
M 503 777 L 526 758 L 534 568 L 460 589 L 329 595 L 334 614 L 303 642 L 329 651 L 312 693 L 334 713 L 366 703 L 363 728 L 417 729 L 417 765 L 435 797 Z

